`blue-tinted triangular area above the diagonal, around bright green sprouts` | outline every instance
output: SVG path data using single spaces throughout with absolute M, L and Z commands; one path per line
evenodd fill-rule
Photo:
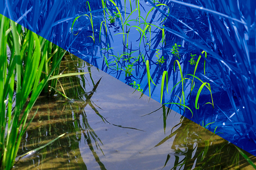
M 86 2 L 9 0 L 0 3 L 0 13 L 129 86 L 135 81 L 134 87 L 140 86 L 149 96 L 145 62 L 148 60 L 151 78 L 157 85 L 151 82 L 151 98 L 160 102 L 162 74 L 167 71 L 169 94 L 165 85 L 162 103 L 185 103 L 193 116 L 188 108 L 184 111 L 184 106 L 166 105 L 200 125 L 214 122 L 207 129 L 256 155 L 256 4 L 252 1 L 234 4 L 233 0 L 186 0 L 185 3 L 163 0 L 161 3 L 165 5 L 160 5 L 140 0 L 140 5 L 134 1 L 131 8 L 127 2 L 125 8 L 124 1 L 115 0 L 121 17 L 112 22 L 110 19 L 118 13 L 113 3 L 106 2 L 105 20 L 101 1 L 89 0 L 91 12 Z M 140 8 L 140 14 L 138 10 L 133 11 L 136 8 Z M 74 19 L 80 15 L 83 16 L 75 21 L 71 32 Z M 128 25 L 123 26 L 126 19 Z M 147 27 L 144 19 L 151 26 L 151 34 L 144 30 Z M 178 57 L 172 52 L 175 43 L 180 45 Z M 211 94 L 203 87 L 196 109 L 195 100 L 202 82 L 195 78 L 195 87 L 190 92 L 189 79 L 193 78 L 195 65 L 189 61 L 191 55 L 196 55 L 197 60 L 202 51 L 207 52 L 207 59 L 202 55 L 195 76 L 210 83 L 214 108 L 206 104 L 212 102 Z M 164 62 L 159 64 L 160 58 Z M 182 74 L 188 78 L 183 88 L 181 83 L 173 88 L 181 80 L 177 63 L 176 72 L 173 69 L 175 60 L 180 62 Z

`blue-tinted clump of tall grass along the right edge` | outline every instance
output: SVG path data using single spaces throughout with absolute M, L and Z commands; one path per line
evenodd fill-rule
M 182 27 L 185 26 L 195 33 L 193 35 L 198 37 L 198 41 L 196 40 L 197 38 L 190 37 L 185 35 L 184 32 L 180 33 L 172 28 L 165 28 L 166 31 L 174 33 L 200 49 L 204 49 L 217 61 L 216 65 L 221 75 L 217 74 L 216 76 L 226 91 L 233 112 L 236 115 L 233 120 L 230 119 L 230 125 L 234 128 L 236 134 L 233 134 L 234 131 L 230 131 L 228 136 L 238 135 L 240 139 L 248 137 L 256 143 L 256 130 L 253 128 L 255 127 L 255 121 L 251 119 L 255 117 L 256 113 L 256 96 L 253 95 L 256 93 L 254 83 L 256 80 L 254 30 L 256 27 L 253 24 L 254 21 L 251 20 L 251 18 L 255 17 L 255 5 L 250 4 L 248 6 L 248 2 L 242 0 L 238 0 L 237 5 L 233 5 L 232 1 L 222 0 L 198 0 L 197 4 L 200 5 L 177 0 L 171 1 L 186 7 L 190 15 L 188 17 L 192 18 L 192 23 L 189 23 L 189 25 L 193 26 L 190 27 L 188 23 L 181 22 L 179 17 L 171 18 L 167 16 L 167 19 L 169 21 L 172 21 L 172 19 L 177 20 L 182 24 Z M 151 1 L 149 3 L 154 5 Z M 219 7 L 227 8 L 220 10 Z M 192 10 L 196 11 L 196 14 Z M 245 14 L 241 11 L 247 12 Z M 164 11 L 160 12 L 165 16 L 167 14 Z M 176 28 L 182 29 L 182 27 L 177 26 Z M 203 31 L 207 31 L 210 37 L 206 38 Z M 207 39 L 211 40 L 212 47 L 207 43 Z M 206 59 L 205 61 L 208 62 Z M 216 71 L 211 63 L 208 65 L 213 71 Z M 243 109 L 238 112 L 240 107 Z M 234 124 L 234 121 L 237 125 Z M 230 138 L 228 140 L 232 141 L 233 139 Z M 243 144 L 238 142 L 238 145 L 242 146 Z M 251 148 L 248 149 L 248 151 L 250 150 Z M 255 154 L 255 149 L 251 153 Z

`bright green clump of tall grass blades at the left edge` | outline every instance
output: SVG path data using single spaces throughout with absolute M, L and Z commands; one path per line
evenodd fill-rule
M 65 53 L 52 63 L 51 71 L 42 79 L 49 42 L 31 31 L 23 32 L 20 25 L 16 26 L 14 21 L 3 15 L 0 15 L 0 22 L 0 167 L 10 170 L 21 138 L 33 119 L 27 123 L 35 101 L 48 80 L 65 76 L 51 76 Z M 7 45 L 11 51 L 10 58 L 7 57 Z

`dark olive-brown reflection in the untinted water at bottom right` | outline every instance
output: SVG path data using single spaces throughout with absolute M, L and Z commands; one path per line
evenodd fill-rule
M 167 154 L 165 165 L 175 160 L 172 169 L 249 169 L 248 162 L 241 157 L 236 147 L 225 139 L 181 117 L 180 123 L 173 127 L 172 133 L 155 147 L 174 137 Z M 247 155 L 249 155 L 247 153 Z M 251 158 L 255 162 L 253 155 Z M 172 162 L 172 161 L 170 161 Z

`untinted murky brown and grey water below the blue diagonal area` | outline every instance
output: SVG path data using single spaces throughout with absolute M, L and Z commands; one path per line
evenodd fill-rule
M 90 74 L 59 79 L 73 102 L 60 94 L 37 100 L 18 155 L 67 134 L 20 158 L 15 170 L 252 169 L 218 135 L 75 56 L 67 60 L 65 72 Z

